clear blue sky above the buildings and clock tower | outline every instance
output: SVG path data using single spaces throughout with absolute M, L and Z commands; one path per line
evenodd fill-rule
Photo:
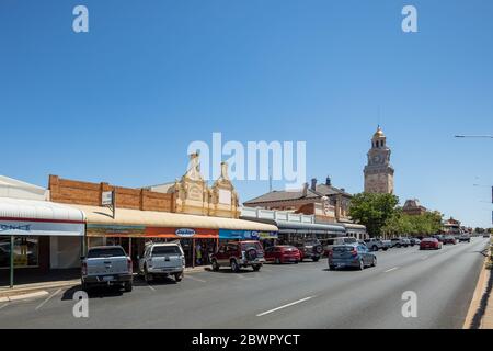
M 419 33 L 401 31 L 405 4 Z M 160 183 L 221 132 L 307 141 L 308 179 L 355 193 L 380 123 L 401 201 L 490 226 L 473 184 L 493 185 L 493 140 L 452 136 L 493 134 L 492 16 L 488 0 L 2 0 L 0 173 Z

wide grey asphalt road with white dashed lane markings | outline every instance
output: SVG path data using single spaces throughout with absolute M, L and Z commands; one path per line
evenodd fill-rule
M 72 315 L 77 288 L 54 290 L 0 304 L 0 328 L 461 328 L 486 245 L 380 251 L 364 271 L 329 271 L 322 260 L 191 273 L 177 284 L 139 280 L 131 293 L 93 292 L 88 318 Z M 406 291 L 417 317 L 402 316 Z

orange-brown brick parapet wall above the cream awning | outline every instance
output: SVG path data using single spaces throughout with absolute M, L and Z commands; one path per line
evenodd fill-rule
M 53 202 L 101 206 L 101 196 L 105 191 L 115 191 L 116 207 L 141 211 L 174 212 L 173 194 L 157 193 L 144 189 L 90 183 L 49 176 L 48 189 Z

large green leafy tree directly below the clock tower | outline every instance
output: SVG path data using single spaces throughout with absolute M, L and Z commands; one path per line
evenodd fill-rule
M 370 237 L 380 236 L 398 203 L 399 197 L 392 194 L 359 193 L 351 200 L 349 216 L 365 225 Z

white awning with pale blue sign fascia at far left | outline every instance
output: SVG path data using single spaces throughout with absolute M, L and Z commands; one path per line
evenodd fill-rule
M 80 210 L 49 201 L 0 197 L 0 236 L 83 236 Z

